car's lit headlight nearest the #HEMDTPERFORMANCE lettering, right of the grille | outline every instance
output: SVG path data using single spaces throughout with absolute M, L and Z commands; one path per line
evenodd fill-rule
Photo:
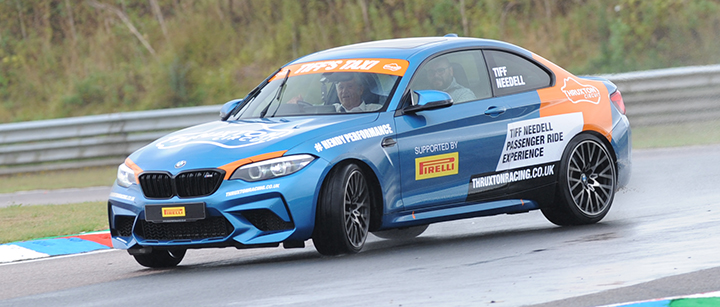
M 280 157 L 238 168 L 230 179 L 260 181 L 290 175 L 308 165 L 315 157 L 311 155 L 295 155 Z

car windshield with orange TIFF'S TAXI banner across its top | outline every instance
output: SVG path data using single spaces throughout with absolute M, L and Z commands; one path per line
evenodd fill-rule
M 232 119 L 379 112 L 407 63 L 350 59 L 290 65 L 251 95 Z

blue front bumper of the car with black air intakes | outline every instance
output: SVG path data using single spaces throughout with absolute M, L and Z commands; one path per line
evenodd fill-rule
M 148 199 L 139 185 L 115 184 L 108 200 L 113 247 L 130 249 L 256 247 L 310 238 L 315 203 L 327 162 L 316 159 L 289 176 L 245 182 L 223 180 L 212 195 L 194 198 Z M 203 204 L 205 218 L 197 221 L 151 222 L 148 205 L 185 207 Z

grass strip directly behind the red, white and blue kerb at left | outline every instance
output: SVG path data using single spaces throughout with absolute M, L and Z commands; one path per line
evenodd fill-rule
M 105 202 L 0 208 L 0 244 L 104 229 Z

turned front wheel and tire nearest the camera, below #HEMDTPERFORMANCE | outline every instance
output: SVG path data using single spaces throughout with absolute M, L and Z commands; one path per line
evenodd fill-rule
M 333 170 L 318 200 L 315 249 L 325 256 L 359 252 L 368 236 L 371 200 L 360 167 L 348 164 Z

